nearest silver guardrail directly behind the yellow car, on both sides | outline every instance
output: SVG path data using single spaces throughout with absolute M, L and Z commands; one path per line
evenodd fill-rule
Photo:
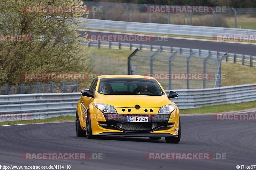
M 165 92 L 169 92 L 167 90 Z M 256 84 L 235 85 L 208 89 L 181 89 L 178 98 L 172 99 L 180 109 L 198 108 L 219 104 L 241 103 L 256 100 Z M 30 119 L 76 114 L 80 93 L 36 93 L 0 95 L 0 122 L 2 115 L 26 113 Z M 214 112 L 214 110 L 212 110 Z M 182 113 L 182 111 L 181 111 Z

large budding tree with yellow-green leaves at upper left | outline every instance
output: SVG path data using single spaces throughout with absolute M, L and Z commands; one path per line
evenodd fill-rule
M 87 35 L 71 29 L 88 16 L 82 5 L 81 0 L 1 0 L 0 84 L 26 83 L 24 73 L 89 72 L 88 47 L 81 45 Z

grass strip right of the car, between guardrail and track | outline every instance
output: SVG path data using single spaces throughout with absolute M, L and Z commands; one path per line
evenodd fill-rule
M 243 102 L 243 103 L 235 103 L 235 104 L 224 104 L 224 105 L 216 105 L 216 106 L 204 106 L 195 109 L 180 109 L 180 114 L 203 114 L 203 113 L 221 113 L 221 112 L 229 112 L 229 111 L 238 111 L 245 109 L 256 110 L 256 101 Z

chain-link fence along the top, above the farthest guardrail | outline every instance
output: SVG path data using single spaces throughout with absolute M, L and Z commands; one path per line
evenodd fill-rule
M 105 19 L 129 22 L 148 22 L 161 24 L 178 24 L 193 26 L 217 26 L 231 28 L 255 29 L 256 8 L 226 8 L 209 7 L 208 12 L 150 12 L 151 7 L 170 5 L 150 5 L 150 4 L 129 4 L 129 3 L 107 3 L 84 1 L 89 7 L 89 18 Z M 175 6 L 179 7 L 179 6 Z M 188 7 L 188 6 L 180 6 Z M 154 8 L 157 9 L 157 8 Z M 172 8 L 171 8 L 172 9 Z

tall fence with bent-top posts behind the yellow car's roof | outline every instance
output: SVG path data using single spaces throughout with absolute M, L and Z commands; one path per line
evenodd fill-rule
M 153 76 L 164 89 L 220 87 L 221 61 L 225 57 L 189 48 L 174 48 L 171 51 L 136 50 L 128 59 L 128 73 Z

